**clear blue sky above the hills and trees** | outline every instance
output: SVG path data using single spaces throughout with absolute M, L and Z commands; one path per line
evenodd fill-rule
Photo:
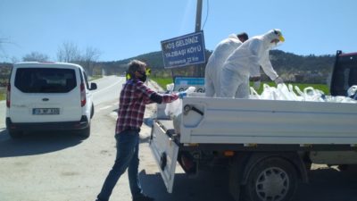
M 213 50 L 231 33 L 250 37 L 281 29 L 285 52 L 357 52 L 355 0 L 203 0 L 205 46 Z M 160 41 L 195 31 L 195 0 L 1 0 L 0 62 L 30 52 L 56 60 L 71 42 L 117 61 L 161 50 Z M 206 20 L 207 19 L 207 20 Z

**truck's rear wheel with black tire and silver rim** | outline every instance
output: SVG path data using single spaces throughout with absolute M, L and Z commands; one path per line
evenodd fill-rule
M 293 164 L 283 158 L 270 157 L 255 164 L 243 187 L 246 201 L 287 201 L 297 188 Z

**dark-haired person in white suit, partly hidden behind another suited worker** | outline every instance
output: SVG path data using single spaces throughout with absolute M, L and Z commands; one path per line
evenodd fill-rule
M 243 32 L 240 34 L 231 34 L 228 38 L 220 41 L 208 59 L 204 71 L 204 88 L 206 96 L 218 96 L 220 94 L 220 71 L 223 63 L 245 40 L 248 35 Z

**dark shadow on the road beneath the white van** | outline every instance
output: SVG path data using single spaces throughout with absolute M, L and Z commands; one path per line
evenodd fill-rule
M 0 158 L 50 153 L 74 147 L 82 140 L 83 138 L 70 132 L 28 133 L 21 138 L 12 139 L 7 130 L 2 130 L 0 131 Z

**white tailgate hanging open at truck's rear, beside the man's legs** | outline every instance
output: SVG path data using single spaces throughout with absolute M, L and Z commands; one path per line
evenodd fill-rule
M 169 135 L 172 121 L 155 121 L 149 142 L 154 159 L 159 166 L 163 182 L 169 193 L 172 192 L 179 146 Z

